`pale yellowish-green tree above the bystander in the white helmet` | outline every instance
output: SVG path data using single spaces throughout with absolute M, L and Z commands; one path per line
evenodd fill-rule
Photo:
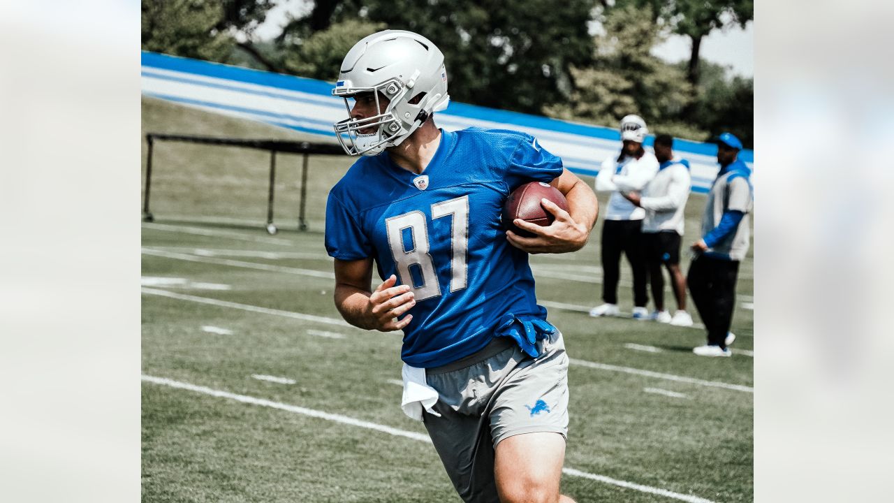
M 611 9 L 603 29 L 605 33 L 595 38 L 595 64 L 574 68 L 575 89 L 569 100 L 544 107 L 544 112 L 611 127 L 624 115 L 637 114 L 653 131 L 704 136 L 697 126 L 675 124 L 692 100 L 692 88 L 683 71 L 650 53 L 661 38 L 651 8 Z

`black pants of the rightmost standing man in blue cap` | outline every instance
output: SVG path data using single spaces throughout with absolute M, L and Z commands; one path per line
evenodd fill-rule
M 709 345 L 726 347 L 724 341 L 736 306 L 737 277 L 738 260 L 701 255 L 689 266 L 689 293 L 708 330 Z

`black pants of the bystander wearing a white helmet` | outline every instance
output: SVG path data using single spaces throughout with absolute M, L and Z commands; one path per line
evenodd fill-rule
M 633 269 L 633 303 L 645 307 L 649 297 L 645 284 L 649 273 L 643 253 L 642 220 L 605 220 L 603 225 L 603 301 L 618 303 L 618 279 L 620 278 L 620 253 L 627 255 Z

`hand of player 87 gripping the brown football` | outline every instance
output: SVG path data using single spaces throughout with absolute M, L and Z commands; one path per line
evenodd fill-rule
M 535 236 L 522 237 L 512 231 L 506 231 L 506 239 L 510 244 L 528 253 L 566 253 L 583 248 L 590 234 L 586 226 L 575 222 L 568 211 L 559 208 L 551 200 L 540 200 L 540 204 L 556 219 L 549 226 L 538 226 L 516 218 L 513 223 L 519 229 L 524 229 Z

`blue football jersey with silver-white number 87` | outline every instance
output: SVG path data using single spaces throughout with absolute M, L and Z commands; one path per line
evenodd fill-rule
M 561 158 L 525 133 L 441 134 L 422 175 L 387 152 L 359 158 L 326 204 L 329 255 L 372 257 L 380 277 L 397 275 L 414 292 L 401 359 L 424 368 L 484 348 L 507 313 L 545 320 L 527 253 L 506 240 L 500 213 L 522 183 L 562 173 Z

